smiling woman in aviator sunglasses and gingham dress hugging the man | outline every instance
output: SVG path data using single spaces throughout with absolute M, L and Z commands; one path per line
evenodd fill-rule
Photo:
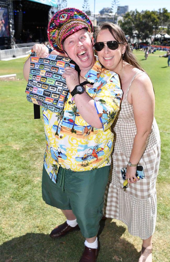
M 100 63 L 119 75 L 123 90 L 121 110 L 112 129 L 115 133 L 114 152 L 104 214 L 122 220 L 132 235 L 143 239 L 139 262 L 150 262 L 156 223 L 155 184 L 160 162 L 154 90 L 120 27 L 104 22 L 95 34 L 94 47 Z M 143 167 L 145 179 L 135 176 L 137 165 Z M 127 168 L 129 183 L 126 191 L 122 190 L 123 167 Z

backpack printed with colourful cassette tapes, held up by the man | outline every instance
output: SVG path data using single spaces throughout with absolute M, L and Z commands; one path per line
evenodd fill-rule
M 62 74 L 67 66 L 75 68 L 73 60 L 52 54 L 38 58 L 34 52 L 30 59 L 30 75 L 25 91 L 27 100 L 52 112 L 63 111 L 69 89 Z

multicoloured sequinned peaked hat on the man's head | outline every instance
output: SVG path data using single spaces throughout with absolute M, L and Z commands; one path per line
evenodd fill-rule
M 48 40 L 52 47 L 60 53 L 64 53 L 62 41 L 66 36 L 87 28 L 93 32 L 93 25 L 88 16 L 76 8 L 65 8 L 55 13 L 48 24 Z

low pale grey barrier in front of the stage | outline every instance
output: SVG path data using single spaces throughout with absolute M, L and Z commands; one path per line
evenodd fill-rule
M 12 58 L 12 57 L 19 57 L 19 56 L 26 56 L 26 52 L 31 49 L 30 46 L 27 47 L 20 47 L 14 49 L 5 49 L 0 50 L 0 60 Z

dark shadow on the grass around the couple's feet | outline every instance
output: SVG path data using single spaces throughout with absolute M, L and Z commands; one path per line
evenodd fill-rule
M 121 238 L 126 230 L 111 219 L 100 223 L 100 252 L 97 262 L 138 261 L 134 246 Z M 78 262 L 84 250 L 84 238 L 75 231 L 58 239 L 43 233 L 26 233 L 0 246 L 0 261 L 5 262 Z

